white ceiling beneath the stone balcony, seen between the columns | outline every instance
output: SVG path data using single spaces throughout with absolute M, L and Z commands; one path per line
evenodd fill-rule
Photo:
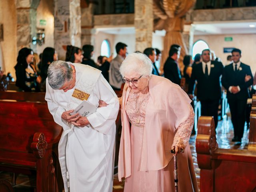
M 254 25 L 255 27 L 249 27 Z M 210 35 L 210 34 L 256 34 L 256 21 L 246 22 L 212 22 L 212 23 L 193 23 L 195 28 L 194 35 Z M 135 34 L 134 26 L 118 26 L 96 28 L 96 32 L 104 32 L 108 34 Z M 165 36 L 165 31 L 155 31 L 157 36 Z

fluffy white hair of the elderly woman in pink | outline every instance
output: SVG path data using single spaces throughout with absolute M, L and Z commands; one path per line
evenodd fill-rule
M 142 53 L 131 53 L 120 66 L 120 73 L 124 78 L 127 73 L 138 73 L 142 76 L 151 76 L 152 74 L 152 62 Z

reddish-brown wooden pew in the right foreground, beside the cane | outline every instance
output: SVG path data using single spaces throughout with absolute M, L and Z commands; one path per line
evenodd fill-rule
M 250 116 L 248 150 L 218 148 L 212 117 L 198 121 L 196 153 L 201 192 L 256 191 L 256 95 Z

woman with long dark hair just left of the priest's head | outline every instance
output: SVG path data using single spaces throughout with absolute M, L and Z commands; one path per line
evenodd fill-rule
M 55 51 L 55 49 L 52 47 L 46 47 L 42 53 L 42 58 L 41 58 L 41 72 L 40 72 L 40 76 L 42 77 L 42 82 L 40 84 L 41 92 L 46 92 L 46 78 L 47 78 L 48 67 L 53 61 L 57 61 L 57 60 L 58 60 L 58 54 Z

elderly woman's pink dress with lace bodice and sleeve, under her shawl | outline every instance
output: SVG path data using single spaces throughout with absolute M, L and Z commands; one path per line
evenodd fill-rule
M 174 191 L 174 163 L 161 170 L 139 171 L 142 152 L 142 138 L 149 93 L 139 96 L 130 92 L 125 110 L 131 123 L 131 176 L 126 178 L 124 192 L 172 192 Z M 190 106 L 189 118 L 180 124 L 174 136 L 173 146 L 185 149 L 190 138 L 194 112 Z

